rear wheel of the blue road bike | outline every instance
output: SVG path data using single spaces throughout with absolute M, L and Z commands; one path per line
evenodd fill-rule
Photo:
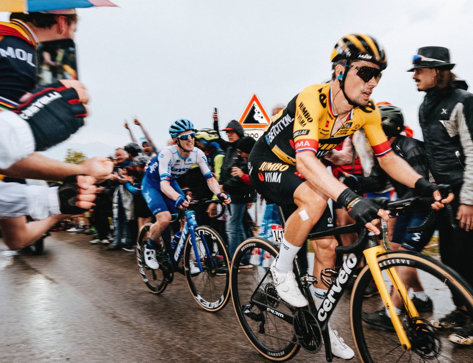
M 147 223 L 142 225 L 140 228 L 140 232 L 138 233 L 138 237 L 136 239 L 136 261 L 138 263 L 138 268 L 140 270 L 141 278 L 143 282 L 148 287 L 149 291 L 153 294 L 161 294 L 166 290 L 167 282 L 165 280 L 165 276 L 162 269 L 154 270 L 149 268 L 144 259 L 144 247 L 148 241 L 148 233 L 149 228 L 151 227 L 151 223 Z M 159 241 L 156 242 L 157 245 L 161 245 L 161 248 L 156 248 L 156 253 L 166 254 L 166 245 L 161 237 L 159 237 Z

